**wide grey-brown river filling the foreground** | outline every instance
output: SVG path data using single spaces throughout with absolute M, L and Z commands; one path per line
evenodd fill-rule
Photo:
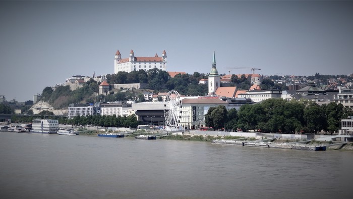
M 0 132 L 0 198 L 352 198 L 353 152 Z

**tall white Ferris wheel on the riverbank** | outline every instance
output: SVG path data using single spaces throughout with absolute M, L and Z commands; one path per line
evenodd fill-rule
M 170 129 L 178 130 L 181 118 L 181 108 L 182 101 L 180 100 L 180 94 L 175 90 L 169 91 L 165 97 L 164 105 L 165 126 Z

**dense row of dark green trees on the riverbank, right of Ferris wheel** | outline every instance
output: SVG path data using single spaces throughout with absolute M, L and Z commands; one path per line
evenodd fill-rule
M 341 119 L 353 115 L 351 109 L 331 102 L 319 106 L 308 100 L 286 101 L 268 99 L 254 105 L 243 105 L 239 111 L 229 111 L 222 105 L 212 107 L 205 115 L 205 123 L 214 129 L 229 131 L 250 130 L 281 133 L 337 132 Z

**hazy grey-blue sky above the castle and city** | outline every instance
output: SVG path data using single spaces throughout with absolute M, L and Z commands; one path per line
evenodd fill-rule
M 0 95 L 33 100 L 73 75 L 167 53 L 167 71 L 353 73 L 351 1 L 1 1 Z M 231 73 L 251 73 L 231 70 Z

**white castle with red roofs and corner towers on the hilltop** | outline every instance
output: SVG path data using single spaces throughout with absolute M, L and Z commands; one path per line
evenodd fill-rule
M 134 51 L 130 51 L 129 58 L 122 59 L 122 55 L 119 50 L 115 53 L 114 58 L 114 73 L 124 71 L 130 73 L 131 71 L 144 70 L 158 68 L 159 70 L 165 71 L 167 69 L 167 54 L 165 51 L 162 53 L 162 57 L 158 57 L 156 54 L 154 57 L 135 57 Z

